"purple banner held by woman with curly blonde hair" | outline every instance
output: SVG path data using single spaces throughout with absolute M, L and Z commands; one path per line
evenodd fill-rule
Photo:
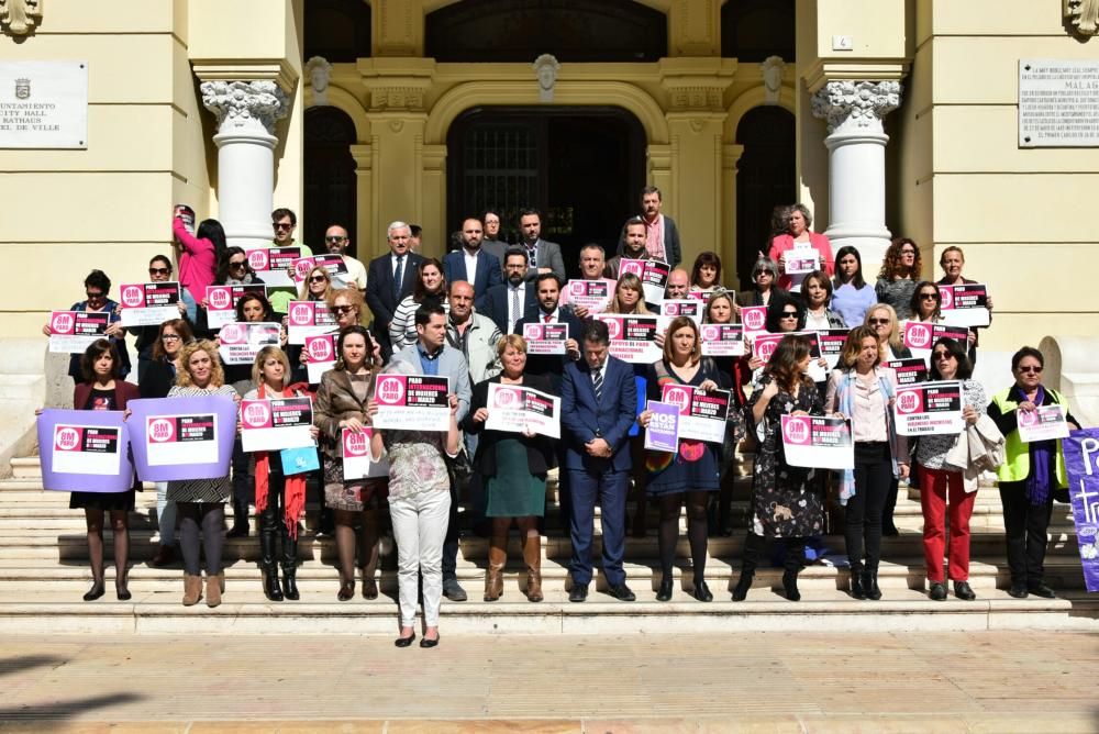
M 227 396 L 131 400 L 126 427 L 143 481 L 229 475 L 236 403 Z

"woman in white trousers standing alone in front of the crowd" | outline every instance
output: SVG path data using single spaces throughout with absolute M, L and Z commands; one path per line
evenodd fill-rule
M 395 359 L 389 370 L 411 374 L 407 362 Z M 451 474 L 446 457 L 462 446 L 458 397 L 449 396 L 451 418 L 441 431 L 377 431 L 370 438 L 374 457 L 389 457 L 389 515 L 397 541 L 401 634 L 393 644 L 409 647 L 415 640 L 415 608 L 423 577 L 423 640 L 420 647 L 439 644 L 439 605 L 443 598 L 443 542 L 451 514 Z M 367 418 L 378 412 L 370 398 Z

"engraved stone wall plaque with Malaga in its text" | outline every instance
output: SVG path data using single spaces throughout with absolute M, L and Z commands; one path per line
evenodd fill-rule
M 1020 59 L 1019 145 L 1099 146 L 1099 60 Z

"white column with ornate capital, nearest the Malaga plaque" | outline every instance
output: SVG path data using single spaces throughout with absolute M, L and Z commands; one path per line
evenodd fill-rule
M 829 227 L 832 252 L 858 248 L 864 273 L 876 273 L 886 227 L 886 143 L 881 120 L 900 107 L 899 81 L 828 81 L 813 94 L 813 114 L 828 121 Z

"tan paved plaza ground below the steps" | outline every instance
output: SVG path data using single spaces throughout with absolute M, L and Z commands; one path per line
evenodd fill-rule
M 1097 669 L 1047 632 L 10 636 L 0 731 L 1096 732 Z

